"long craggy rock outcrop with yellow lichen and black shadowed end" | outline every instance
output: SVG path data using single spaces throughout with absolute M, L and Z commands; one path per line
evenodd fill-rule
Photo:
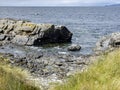
M 0 41 L 18 45 L 70 42 L 72 33 L 65 26 L 35 24 L 25 20 L 0 19 Z

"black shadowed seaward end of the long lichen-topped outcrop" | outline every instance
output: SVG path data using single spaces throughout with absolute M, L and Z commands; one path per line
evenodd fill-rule
M 65 26 L 54 26 L 51 24 L 43 25 L 39 33 L 39 38 L 35 41 L 35 44 L 40 41 L 44 43 L 62 43 L 70 42 L 72 33 Z M 39 43 L 38 43 L 39 44 Z

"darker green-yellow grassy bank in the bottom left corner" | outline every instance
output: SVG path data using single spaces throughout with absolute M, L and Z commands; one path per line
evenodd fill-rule
M 26 80 L 28 73 L 9 65 L 8 60 L 0 56 L 0 90 L 39 90 Z

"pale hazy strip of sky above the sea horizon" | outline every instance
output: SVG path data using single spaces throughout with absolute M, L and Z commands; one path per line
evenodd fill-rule
M 0 6 L 94 6 L 117 3 L 120 0 L 0 0 Z

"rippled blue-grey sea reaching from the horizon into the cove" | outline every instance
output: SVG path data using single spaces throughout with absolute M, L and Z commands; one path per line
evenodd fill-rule
M 120 31 L 120 7 L 0 7 L 0 18 L 30 20 L 34 23 L 64 25 L 72 33 L 72 42 L 42 46 L 52 53 L 72 53 L 89 55 L 100 37 Z M 68 52 L 71 44 L 82 48 L 77 52 Z

